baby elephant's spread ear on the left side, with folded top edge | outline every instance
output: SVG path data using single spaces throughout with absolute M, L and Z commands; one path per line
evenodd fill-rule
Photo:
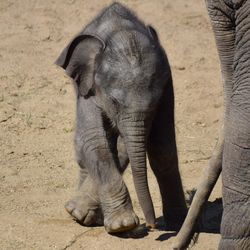
M 80 95 L 88 97 L 94 85 L 96 59 L 105 49 L 104 41 L 92 34 L 76 36 L 62 51 L 55 64 L 76 83 Z

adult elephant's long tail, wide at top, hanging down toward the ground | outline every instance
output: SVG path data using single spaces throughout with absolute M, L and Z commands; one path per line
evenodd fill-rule
M 223 4 L 222 1 L 207 0 L 207 9 L 211 18 L 212 27 L 214 30 L 217 49 L 221 62 L 221 72 L 224 88 L 224 122 L 225 117 L 230 112 L 230 98 L 232 95 L 233 85 L 233 61 L 234 61 L 234 41 L 235 28 L 232 18 L 234 17 L 233 9 L 230 6 Z M 227 13 L 227 14 L 226 14 Z M 224 126 L 219 134 L 218 142 L 214 148 L 208 167 L 203 172 L 203 177 L 197 188 L 193 198 L 188 215 L 184 224 L 178 233 L 174 249 L 183 249 L 186 247 L 194 233 L 195 224 L 202 211 L 202 208 L 209 198 L 210 193 L 221 173 L 222 155 L 224 148 Z

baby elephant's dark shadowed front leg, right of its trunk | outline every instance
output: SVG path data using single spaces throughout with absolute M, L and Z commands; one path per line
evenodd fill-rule
M 157 178 L 163 215 L 167 226 L 180 226 L 187 207 L 178 169 L 174 127 L 174 94 L 172 80 L 160 100 L 147 143 L 148 158 Z

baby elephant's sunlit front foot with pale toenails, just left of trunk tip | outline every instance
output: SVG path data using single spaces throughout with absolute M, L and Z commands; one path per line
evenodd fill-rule
M 104 217 L 104 226 L 108 233 L 121 233 L 139 225 L 139 218 L 133 210 L 120 209 Z

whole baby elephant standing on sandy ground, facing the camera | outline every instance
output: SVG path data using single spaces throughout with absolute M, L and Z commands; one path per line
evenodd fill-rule
M 67 211 L 84 225 L 104 222 L 108 232 L 136 227 L 139 220 L 122 179 L 130 161 L 139 203 L 148 226 L 154 227 L 147 152 L 166 222 L 182 222 L 186 204 L 178 170 L 172 78 L 155 30 L 115 3 L 73 39 L 56 63 L 77 91 L 80 183 Z

